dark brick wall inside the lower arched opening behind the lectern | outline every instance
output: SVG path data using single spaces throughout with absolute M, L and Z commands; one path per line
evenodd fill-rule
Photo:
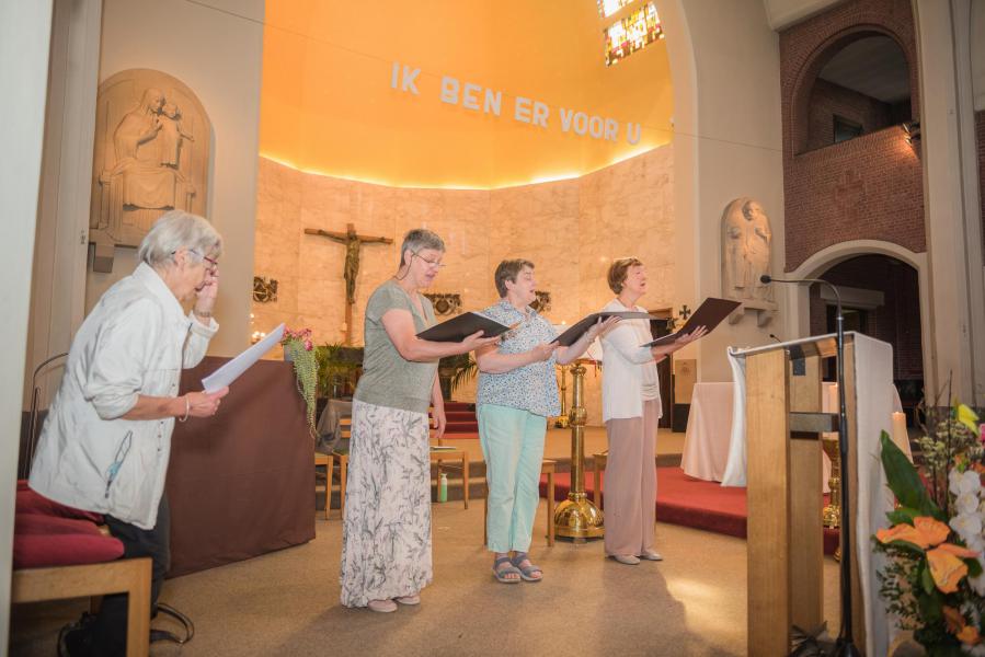
M 884 304 L 866 312 L 866 335 L 893 345 L 893 379 L 921 380 L 920 308 L 917 270 L 883 255 L 863 255 L 835 265 L 822 278 L 839 286 L 877 290 Z M 811 334 L 827 333 L 826 303 L 811 286 Z M 850 307 L 850 304 L 848 304 Z

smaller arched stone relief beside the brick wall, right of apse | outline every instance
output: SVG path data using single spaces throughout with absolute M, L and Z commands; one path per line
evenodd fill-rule
M 722 214 L 722 296 L 772 301 L 772 288 L 760 283 L 769 274 L 772 231 L 759 201 L 736 198 Z

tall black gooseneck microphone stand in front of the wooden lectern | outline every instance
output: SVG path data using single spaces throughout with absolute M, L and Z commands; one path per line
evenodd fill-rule
M 837 353 L 838 368 L 838 456 L 841 459 L 841 469 L 844 473 L 848 473 L 848 412 L 845 405 L 845 314 L 841 312 L 841 295 L 838 288 L 827 280 L 821 278 L 801 278 L 801 279 L 781 279 L 771 276 L 760 276 L 759 281 L 769 283 L 817 283 L 826 285 L 835 293 L 835 303 L 837 304 L 837 316 L 835 319 L 835 349 Z M 851 477 L 843 474 L 841 476 L 841 568 L 840 568 L 840 593 L 841 593 L 841 631 L 838 633 L 838 642 L 835 644 L 836 657 L 861 657 L 858 646 L 855 645 L 852 637 L 852 618 L 851 618 L 851 496 L 849 488 L 851 487 Z

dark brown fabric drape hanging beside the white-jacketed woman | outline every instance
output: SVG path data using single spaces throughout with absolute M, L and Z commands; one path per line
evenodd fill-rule
M 185 370 L 181 394 L 228 358 Z M 289 362 L 261 360 L 219 413 L 174 429 L 167 495 L 171 570 L 186 575 L 314 538 L 314 443 Z

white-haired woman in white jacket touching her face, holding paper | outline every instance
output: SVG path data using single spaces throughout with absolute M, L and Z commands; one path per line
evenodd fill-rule
M 202 217 L 172 210 L 158 219 L 140 264 L 76 334 L 31 470 L 31 487 L 45 497 L 103 514 L 126 557 L 151 557 L 151 609 L 170 566 L 164 476 L 174 420 L 215 415 L 228 392 L 177 396 L 182 368 L 198 365 L 219 327 L 221 251 Z M 185 301 L 194 301 L 187 315 Z M 123 655 L 126 613 L 125 595 L 106 596 L 95 619 L 62 631 L 62 652 Z

